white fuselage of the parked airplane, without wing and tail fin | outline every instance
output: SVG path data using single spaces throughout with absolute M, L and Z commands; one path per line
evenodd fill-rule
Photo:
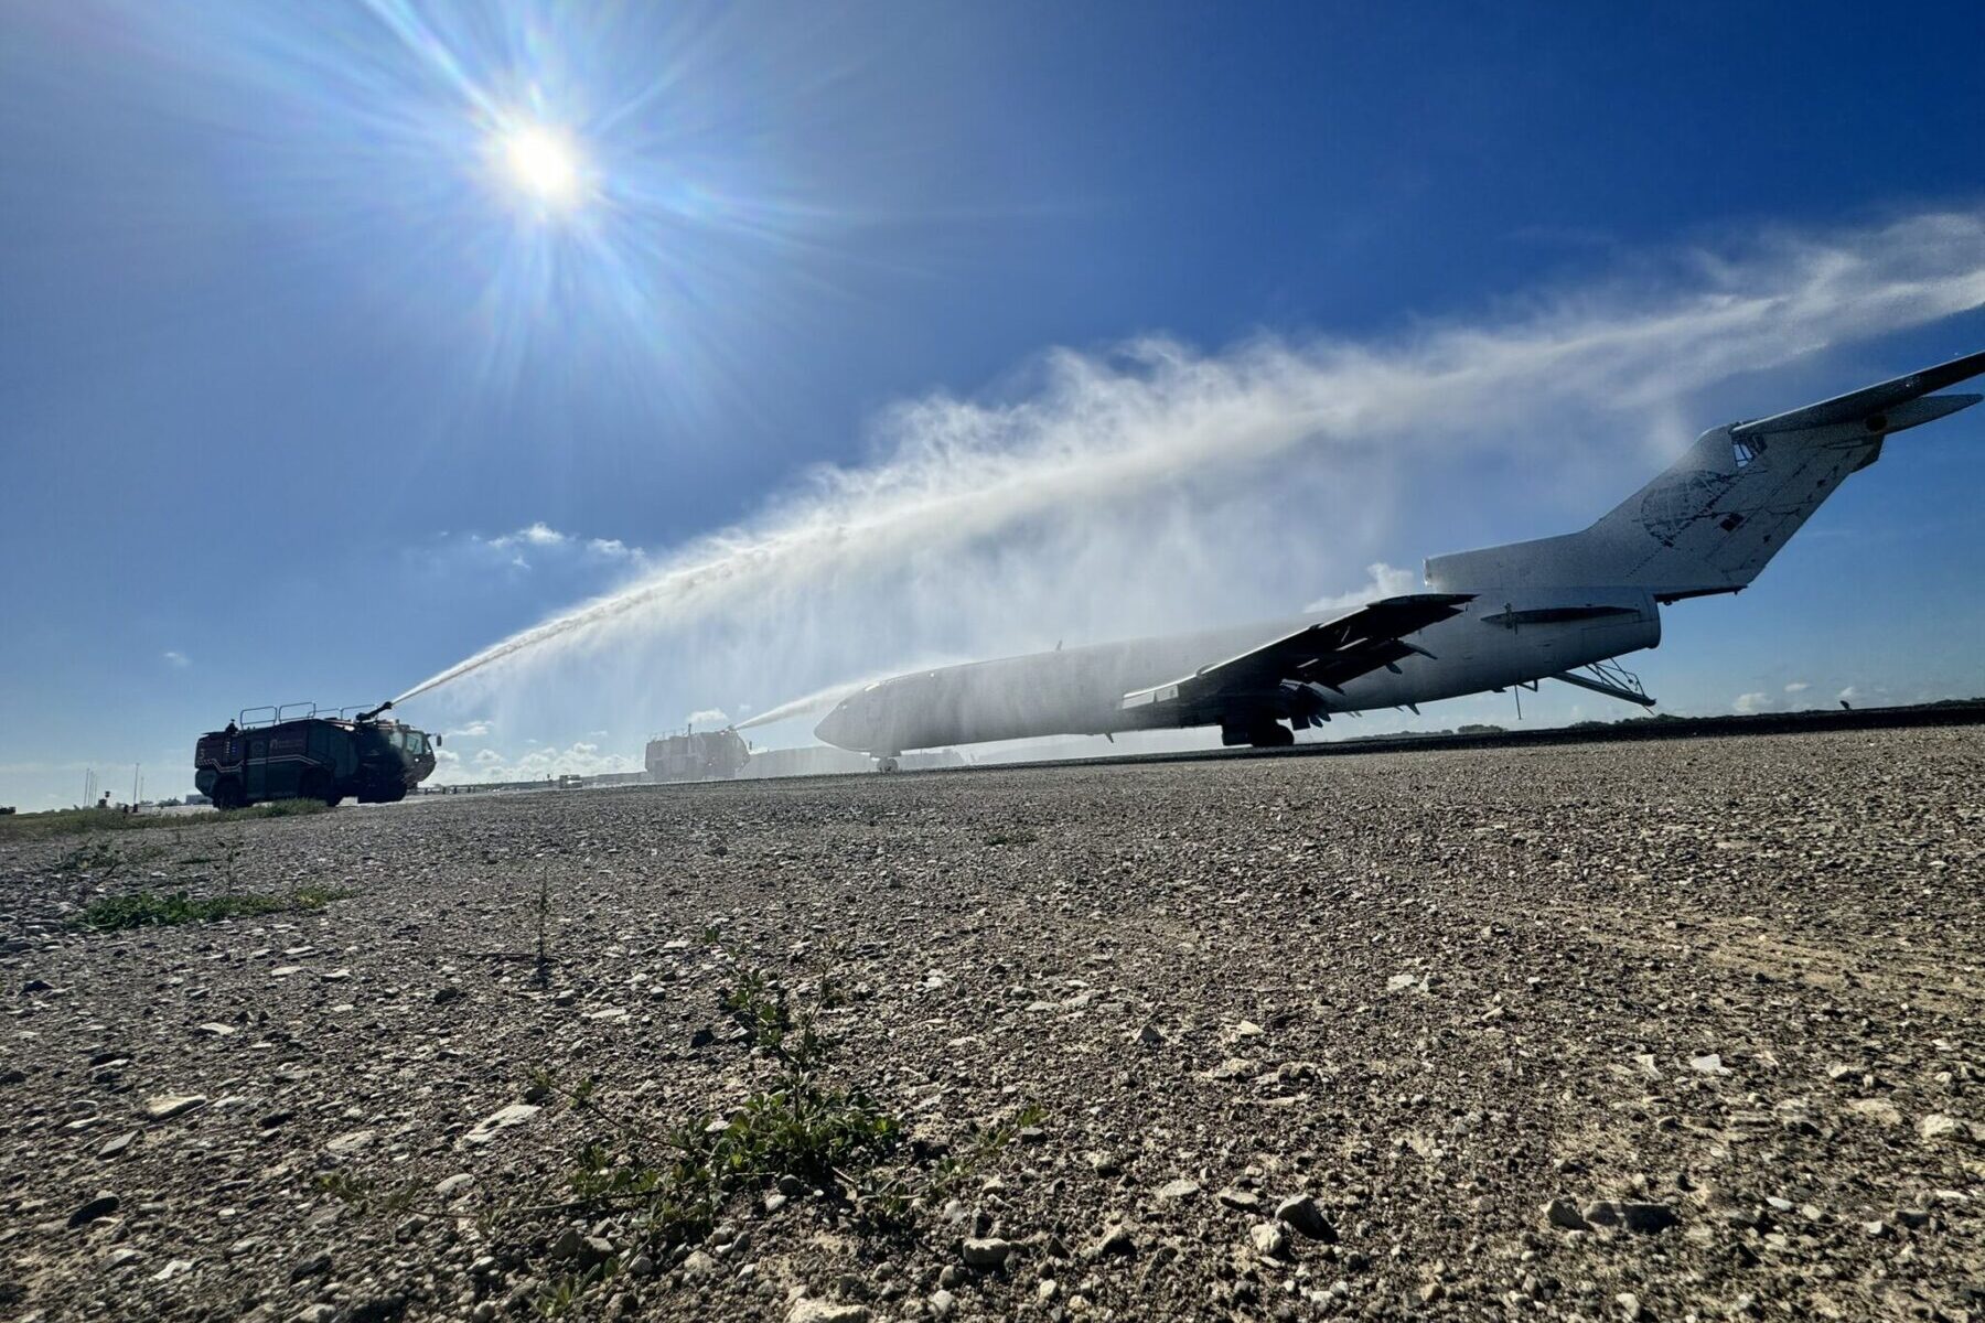
M 1489 617 L 1552 607 L 1614 607 L 1612 615 L 1560 623 L 1497 623 Z M 816 728 L 828 744 L 875 756 L 987 740 L 1221 724 L 1167 704 L 1124 706 L 1135 690 L 1167 684 L 1262 643 L 1290 635 L 1320 615 L 1266 621 L 1127 643 L 1100 643 L 1026 657 L 911 670 L 842 700 Z M 1362 712 L 1407 702 L 1505 688 L 1590 662 L 1652 649 L 1661 619 L 1644 589 L 1548 589 L 1479 593 L 1453 619 L 1407 635 L 1427 655 L 1391 670 L 1348 680 L 1320 694 L 1326 712 Z M 1272 698 L 1270 698 L 1272 702 Z M 1258 716 L 1276 716 L 1257 708 Z

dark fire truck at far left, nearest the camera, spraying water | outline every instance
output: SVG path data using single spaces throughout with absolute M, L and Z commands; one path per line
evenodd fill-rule
M 290 714 L 302 706 L 310 710 Z M 193 783 L 216 809 L 270 799 L 395 803 L 435 772 L 441 736 L 381 718 L 391 706 L 351 718 L 343 708 L 318 712 L 316 704 L 250 708 L 224 730 L 200 736 Z M 250 712 L 268 716 L 248 720 Z

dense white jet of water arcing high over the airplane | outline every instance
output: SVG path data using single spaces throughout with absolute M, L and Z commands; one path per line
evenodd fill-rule
M 1566 419 L 1644 415 L 1818 345 L 1985 305 L 1985 216 L 1767 240 L 1715 264 L 1685 254 L 1673 268 L 1661 296 L 1650 298 L 1646 282 L 1572 290 L 1515 319 L 1393 343 L 1255 339 L 1203 355 L 1147 339 L 1104 355 L 1050 353 L 1022 399 L 903 405 L 881 422 L 881 458 L 818 472 L 758 520 L 659 557 L 625 587 L 395 702 L 526 651 L 681 631 L 913 555 L 965 555 L 1028 522 L 1104 530 L 1137 496 L 1207 476 L 1266 488 L 1290 464 L 1330 468 L 1374 442 L 1401 466 L 1491 448 L 1554 462 L 1578 444 L 1618 450 L 1606 428 Z M 1118 532 L 1135 543 L 1137 530 Z

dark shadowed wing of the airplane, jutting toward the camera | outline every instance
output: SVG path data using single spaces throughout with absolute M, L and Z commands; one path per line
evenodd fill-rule
M 1223 706 L 1270 694 L 1284 682 L 1338 688 L 1368 670 L 1411 657 L 1405 635 L 1461 613 L 1473 593 L 1407 593 L 1318 621 L 1258 649 L 1201 666 L 1193 674 L 1124 694 L 1120 706 L 1177 702 L 1187 708 Z

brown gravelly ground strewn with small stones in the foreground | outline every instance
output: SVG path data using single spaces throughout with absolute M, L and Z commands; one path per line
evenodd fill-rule
M 1981 875 L 1981 728 L 0 845 L 0 1315 L 1985 1319 Z M 756 976 L 901 1206 L 578 1198 L 776 1085 Z

